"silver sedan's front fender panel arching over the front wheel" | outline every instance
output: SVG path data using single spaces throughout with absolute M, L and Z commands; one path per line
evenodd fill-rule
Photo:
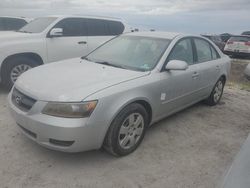
M 98 100 L 91 118 L 98 118 L 100 124 L 99 143 L 103 143 L 105 135 L 117 114 L 127 105 L 136 101 L 147 102 L 152 110 L 151 122 L 157 117 L 160 105 L 160 84 L 158 76 L 148 76 L 128 81 L 91 95 L 85 101 Z M 147 81 L 145 80 L 147 79 Z M 146 83 L 146 84 L 145 84 Z

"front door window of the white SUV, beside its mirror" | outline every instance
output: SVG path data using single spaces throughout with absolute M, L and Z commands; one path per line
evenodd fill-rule
M 65 18 L 58 22 L 54 28 L 62 28 L 63 36 L 87 36 L 87 21 L 84 18 Z

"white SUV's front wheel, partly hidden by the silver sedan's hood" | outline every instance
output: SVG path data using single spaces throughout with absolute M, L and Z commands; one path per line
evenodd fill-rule
M 38 63 L 27 57 L 11 58 L 3 66 L 2 70 L 3 85 L 7 89 L 11 89 L 11 87 L 14 85 L 14 82 L 16 81 L 14 80 L 15 77 L 14 75 L 17 75 L 16 76 L 17 79 L 18 76 L 20 76 L 23 72 L 36 66 L 38 66 Z

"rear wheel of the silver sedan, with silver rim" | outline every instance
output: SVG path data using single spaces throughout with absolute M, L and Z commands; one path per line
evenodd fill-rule
M 221 77 L 215 84 L 210 96 L 205 100 L 209 106 L 214 106 L 220 102 L 223 95 L 225 80 Z

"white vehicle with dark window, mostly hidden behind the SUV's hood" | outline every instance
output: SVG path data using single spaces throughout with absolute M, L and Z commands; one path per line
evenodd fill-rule
M 32 19 L 30 18 L 24 18 L 24 17 L 1 16 L 0 31 L 16 31 L 25 26 L 31 20 Z

